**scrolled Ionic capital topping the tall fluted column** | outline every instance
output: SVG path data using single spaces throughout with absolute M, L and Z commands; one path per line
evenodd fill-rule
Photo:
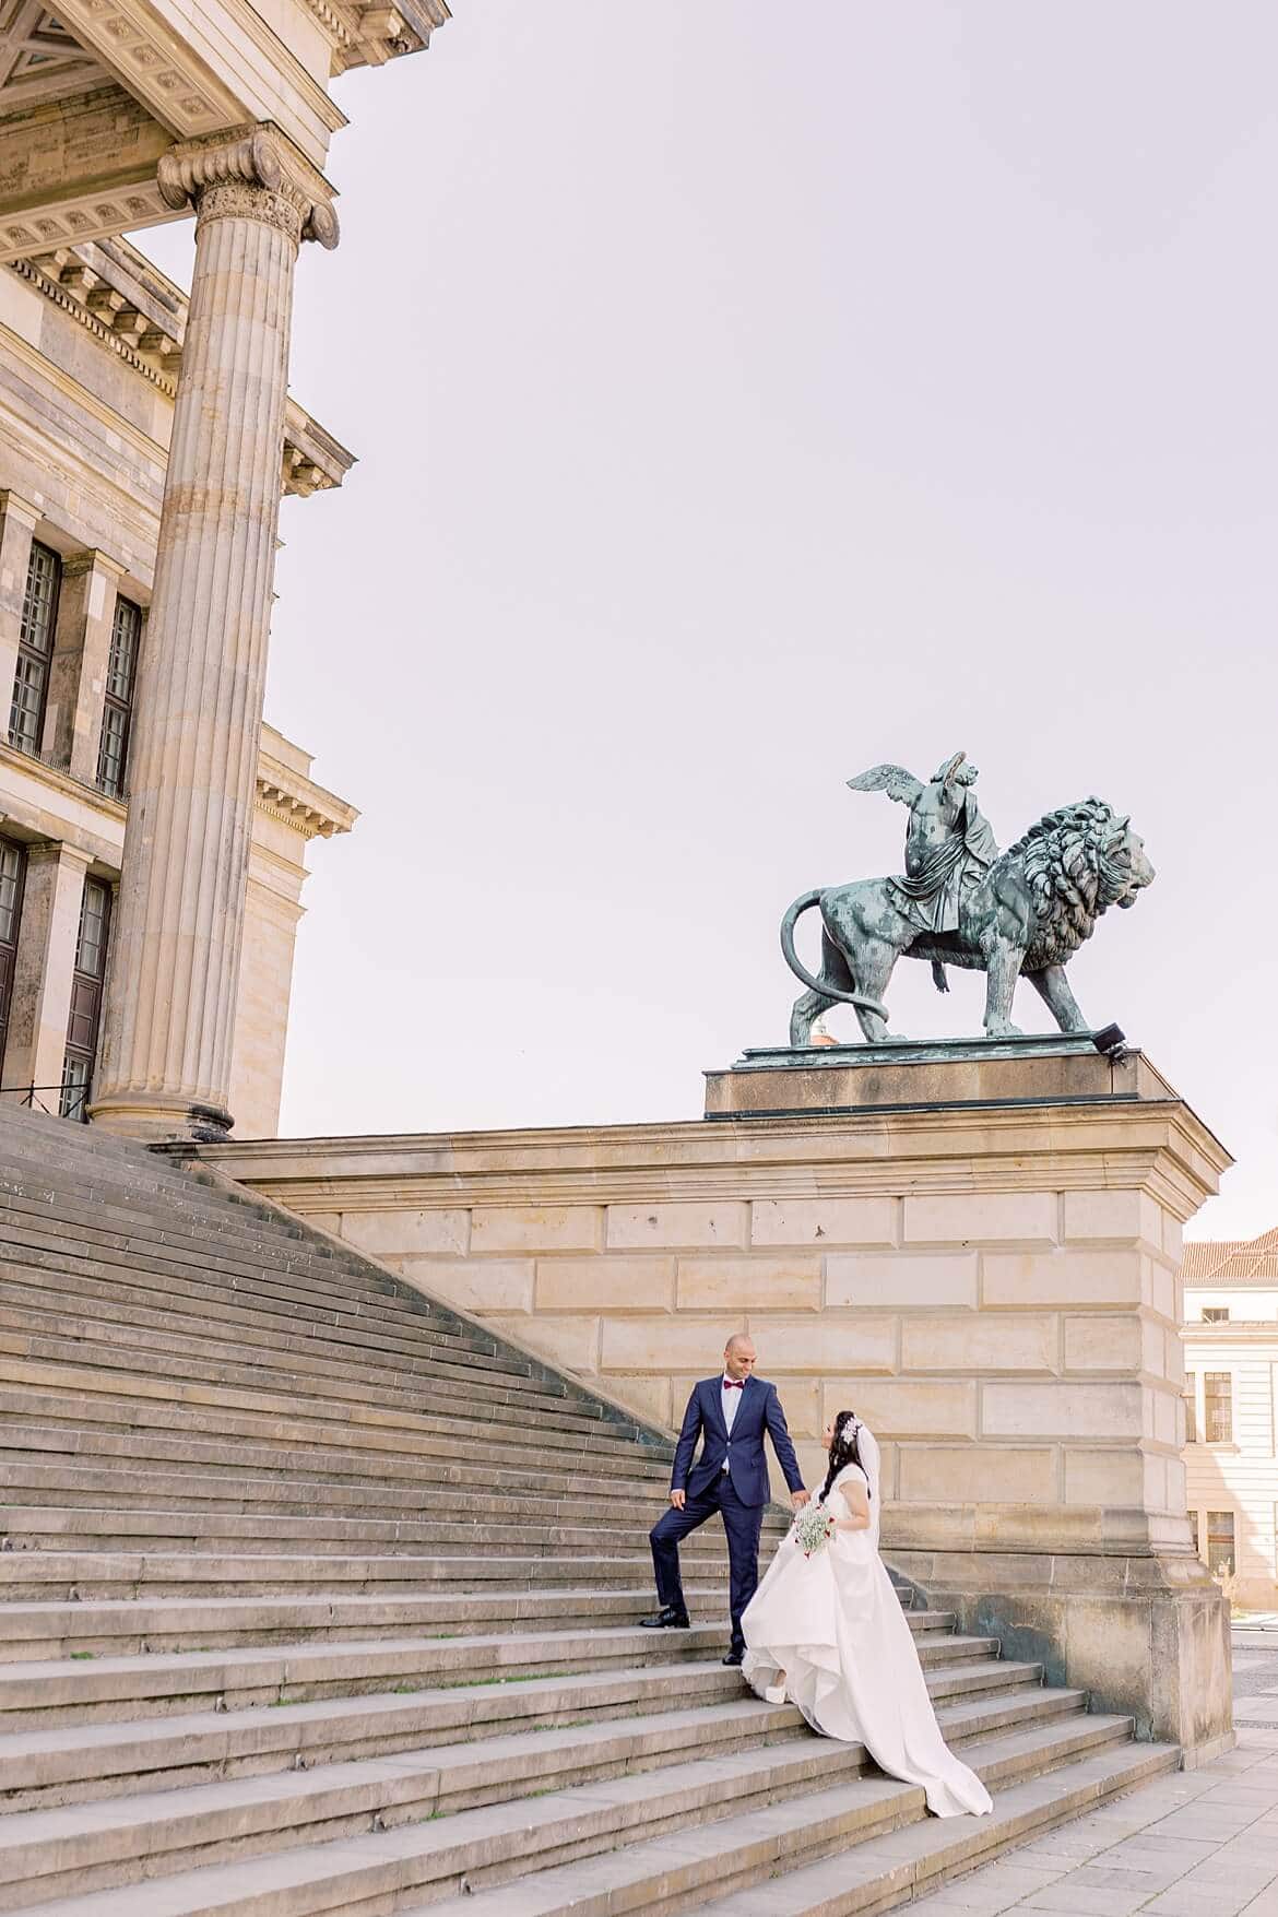
M 249 219 L 278 226 L 293 245 L 337 245 L 328 180 L 276 127 L 251 123 L 182 140 L 161 157 L 157 178 L 165 205 L 194 205 L 197 222 Z

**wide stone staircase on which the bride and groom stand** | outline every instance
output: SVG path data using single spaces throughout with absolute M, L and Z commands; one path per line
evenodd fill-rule
M 1176 1766 L 912 1610 L 996 1804 L 925 1817 L 720 1666 L 709 1528 L 696 1628 L 638 1628 L 669 1457 L 287 1213 L 0 1106 L 0 1911 L 870 1913 Z

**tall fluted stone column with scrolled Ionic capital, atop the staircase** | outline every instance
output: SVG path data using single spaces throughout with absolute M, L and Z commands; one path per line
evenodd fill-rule
M 322 176 L 274 128 L 159 163 L 195 207 L 96 1123 L 230 1129 L 232 1026 L 257 774 L 299 240 L 337 243 Z

